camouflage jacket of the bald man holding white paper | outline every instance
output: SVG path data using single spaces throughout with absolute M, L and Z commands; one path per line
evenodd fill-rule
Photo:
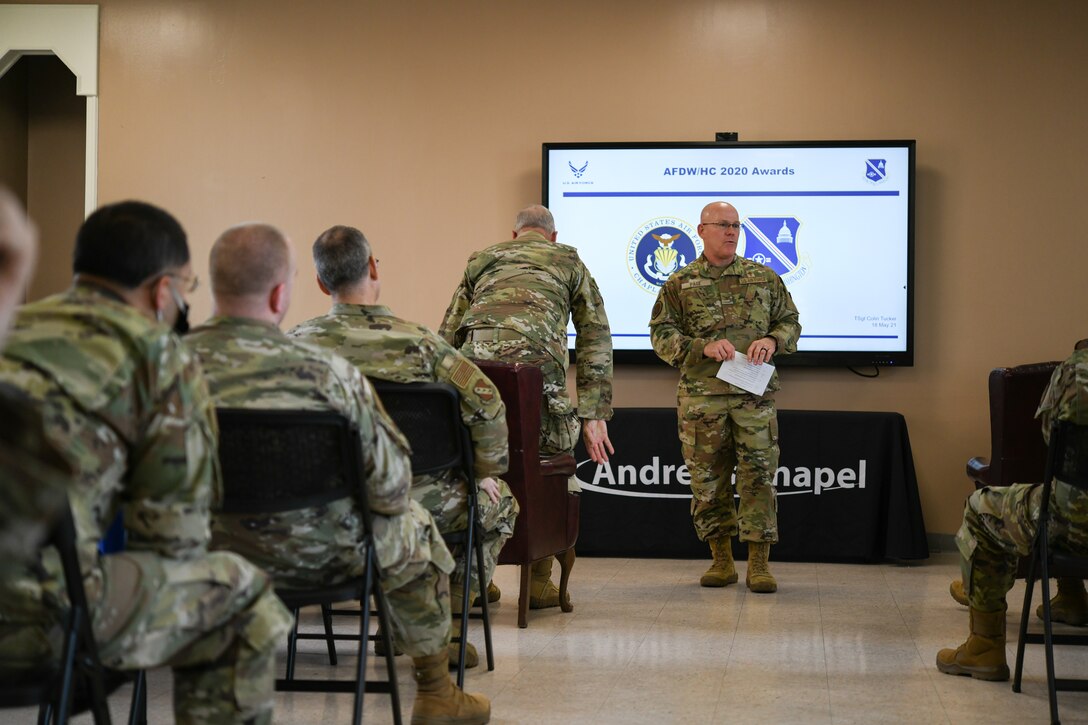
M 798 308 L 774 270 L 740 256 L 726 267 L 715 267 L 700 256 L 673 273 L 657 294 L 650 319 L 657 356 L 681 370 L 681 397 L 743 394 L 742 389 L 715 377 L 721 364 L 703 355 L 703 347 L 725 339 L 743 353 L 767 336 L 778 344 L 776 355 L 796 352 Z M 778 388 L 776 371 L 767 391 Z

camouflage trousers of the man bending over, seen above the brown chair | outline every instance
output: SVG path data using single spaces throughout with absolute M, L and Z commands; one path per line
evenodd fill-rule
M 461 353 L 478 360 L 535 365 L 544 376 L 541 406 L 541 455 L 571 453 L 582 423 L 567 392 L 567 368 L 529 340 L 468 341 Z

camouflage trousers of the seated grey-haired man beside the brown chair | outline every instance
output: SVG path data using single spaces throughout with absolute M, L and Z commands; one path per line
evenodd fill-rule
M 468 488 L 465 481 L 447 472 L 442 476 L 417 476 L 412 479 L 411 495 L 434 516 L 438 530 L 443 533 L 463 531 L 468 526 Z M 491 496 L 483 491 L 477 493 L 477 536 L 483 541 L 483 580 L 491 581 L 495 574 L 495 563 L 503 544 L 514 534 L 514 521 L 518 517 L 518 501 L 510 492 L 510 487 L 502 479 L 498 483 L 498 503 L 492 503 Z M 455 588 L 465 581 L 465 565 L 459 551 L 452 552 L 457 561 L 457 568 L 450 575 Z M 472 591 L 480 593 L 480 573 L 475 570 L 475 558 L 472 560 Z

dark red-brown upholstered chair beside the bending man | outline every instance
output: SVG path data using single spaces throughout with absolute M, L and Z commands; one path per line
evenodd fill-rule
M 518 594 L 518 626 L 528 626 L 529 575 L 533 562 L 548 556 L 559 561 L 559 601 L 570 612 L 567 583 L 574 565 L 578 540 L 579 496 L 567 492 L 567 479 L 574 475 L 574 457 L 562 454 L 540 457 L 541 405 L 544 378 L 540 368 L 521 362 L 475 360 L 491 378 L 506 405 L 510 431 L 510 468 L 503 476 L 518 500 L 521 512 L 511 536 L 498 555 L 499 564 L 521 567 Z

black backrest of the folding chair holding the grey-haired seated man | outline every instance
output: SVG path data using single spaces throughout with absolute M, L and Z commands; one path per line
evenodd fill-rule
M 412 476 L 457 469 L 474 483 L 472 439 L 461 420 L 460 394 L 447 383 L 374 380 L 374 391 L 411 444 Z

